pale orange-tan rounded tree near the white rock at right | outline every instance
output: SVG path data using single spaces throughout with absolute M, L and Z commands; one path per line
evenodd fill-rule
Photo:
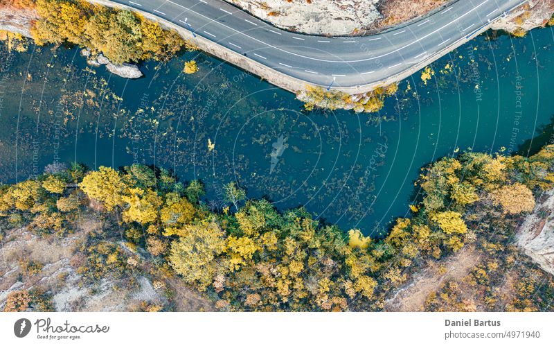
M 519 182 L 492 191 L 490 196 L 494 205 L 500 205 L 507 214 L 530 212 L 535 208 L 533 191 Z

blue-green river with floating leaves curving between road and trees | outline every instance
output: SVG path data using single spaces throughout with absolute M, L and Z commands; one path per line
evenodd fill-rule
M 251 198 L 377 236 L 408 213 L 420 167 L 457 150 L 521 150 L 551 123 L 553 30 L 493 35 L 432 64 L 427 85 L 420 73 L 402 81 L 377 114 L 306 112 L 202 53 L 147 62 L 144 78 L 124 80 L 87 67 L 78 49 L 1 45 L 0 180 L 53 162 L 155 164 L 203 180 L 213 207 L 235 180 Z M 190 59 L 200 71 L 181 74 Z

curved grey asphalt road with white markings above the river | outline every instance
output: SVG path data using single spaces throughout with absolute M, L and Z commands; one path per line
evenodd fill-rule
M 289 33 L 221 0 L 113 1 L 172 21 L 195 35 L 316 85 L 385 80 L 470 37 L 527 0 L 459 0 L 418 21 L 364 37 Z

